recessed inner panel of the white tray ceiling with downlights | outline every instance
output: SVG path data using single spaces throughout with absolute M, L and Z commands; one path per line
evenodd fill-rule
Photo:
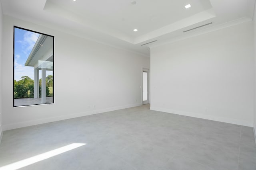
M 72 12 L 76 18 L 92 21 L 114 29 L 131 38 L 144 35 L 170 23 L 182 20 L 212 8 L 209 0 L 191 0 L 193 8 L 185 9 L 188 0 L 47 0 L 45 10 L 54 8 L 63 13 Z M 134 32 L 133 29 L 139 31 Z

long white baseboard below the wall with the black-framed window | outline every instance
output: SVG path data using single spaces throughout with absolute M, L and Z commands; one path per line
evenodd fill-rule
M 97 113 L 104 113 L 104 112 L 120 110 L 120 109 L 126 109 L 129 107 L 136 107 L 136 106 L 141 106 L 141 105 L 142 105 L 142 103 L 131 104 L 131 105 L 126 105 L 126 106 L 117 106 L 117 107 L 110 107 L 110 108 L 106 108 L 106 109 L 85 111 L 85 112 L 74 113 L 74 114 L 69 114 L 69 115 L 61 115 L 61 116 L 57 116 L 57 117 L 49 117 L 49 118 L 45 118 L 45 119 L 37 119 L 37 120 L 33 120 L 33 121 L 24 121 L 24 122 L 19 122 L 19 123 L 3 125 L 3 130 L 6 131 L 6 130 L 10 130 L 10 129 L 17 129 L 20 127 L 39 125 L 42 123 L 49 123 L 49 122 L 60 121 L 60 120 L 65 120 L 65 119 L 72 119 L 75 117 L 82 117 L 82 116 L 93 115 L 93 114 L 97 114 Z

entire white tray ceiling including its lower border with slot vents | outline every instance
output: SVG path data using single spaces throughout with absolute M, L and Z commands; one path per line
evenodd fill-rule
M 2 0 L 5 15 L 150 56 L 148 47 L 252 20 L 255 0 Z M 185 5 L 191 4 L 186 9 Z M 206 23 L 212 24 L 184 33 Z M 133 29 L 138 29 L 134 32 Z M 148 47 L 141 46 L 144 43 Z

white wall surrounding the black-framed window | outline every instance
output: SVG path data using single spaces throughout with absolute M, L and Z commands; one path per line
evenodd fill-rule
M 14 25 L 55 36 L 55 104 L 12 107 Z M 148 57 L 8 16 L 3 35 L 4 130 L 142 104 L 142 67 L 150 66 Z

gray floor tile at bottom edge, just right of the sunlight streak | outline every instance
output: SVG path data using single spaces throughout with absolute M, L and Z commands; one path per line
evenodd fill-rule
M 108 152 L 104 147 L 95 143 L 86 144 L 77 149 L 49 158 L 48 160 L 37 162 L 36 164 L 32 164 L 23 169 L 134 170 L 132 166 Z

